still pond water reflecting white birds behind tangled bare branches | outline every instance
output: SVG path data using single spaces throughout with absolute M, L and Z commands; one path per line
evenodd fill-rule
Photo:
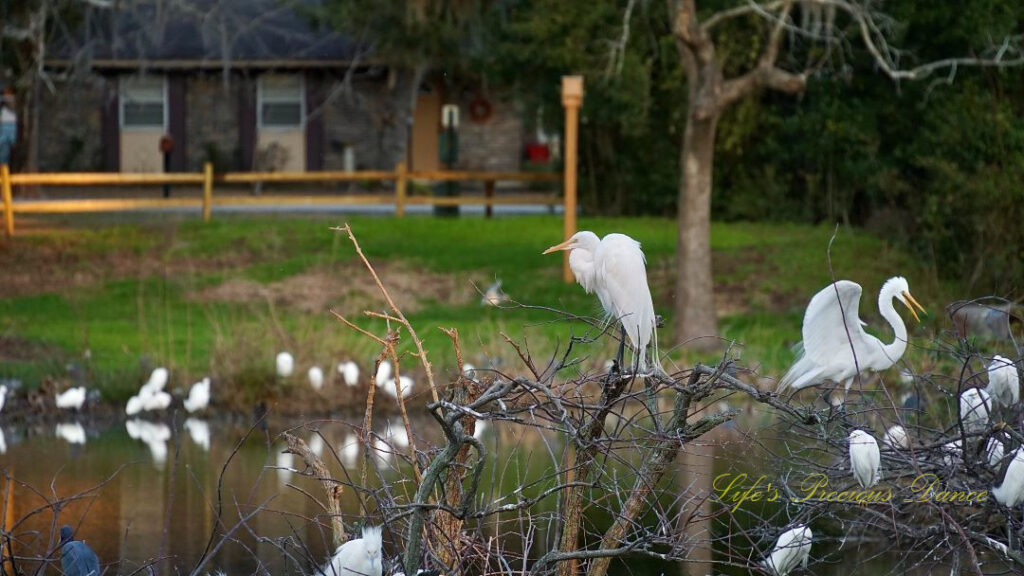
M 330 525 L 315 500 L 323 500 L 323 488 L 315 480 L 293 471 L 303 465 L 281 455 L 283 445 L 275 441 L 283 429 L 294 428 L 314 450 L 323 450 L 334 478 L 358 484 L 364 449 L 352 425 L 361 415 L 312 422 L 270 420 L 265 428 L 252 428 L 248 422 L 209 419 L 160 420 L 67 420 L 37 422 L 28 425 L 4 423 L 6 451 L 0 455 L 0 468 L 14 479 L 13 497 L 5 501 L 4 521 L 8 530 L 19 537 L 17 556 L 45 556 L 52 549 L 54 531 L 60 524 L 78 527 L 78 537 L 86 540 L 102 563 L 114 563 L 106 574 L 129 575 L 152 570 L 158 574 L 187 574 L 211 546 L 217 546 L 221 534 L 236 529 L 231 538 L 216 548 L 203 573 L 224 570 L 227 574 L 253 574 L 263 569 L 278 574 L 309 574 L 328 558 Z M 306 424 L 302 426 L 302 424 Z M 751 422 L 748 422 L 751 424 Z M 733 424 L 716 431 L 708 442 L 694 446 L 678 459 L 675 474 L 667 481 L 678 493 L 689 489 L 708 490 L 715 475 L 725 471 L 763 471 L 764 460 L 750 452 L 743 434 Z M 757 424 L 755 424 L 757 425 Z M 301 427 L 296 427 L 301 426 Z M 319 434 L 312 431 L 319 430 Z M 415 430 L 436 429 L 429 420 L 414 421 Z M 394 449 L 408 450 L 408 438 L 395 418 L 378 418 L 375 431 L 387 438 Z M 531 430 L 532 431 L 532 430 Z M 481 435 L 498 457 L 484 472 L 481 501 L 489 502 L 499 494 L 511 493 L 516 484 L 542 478 L 551 469 L 560 447 L 539 433 L 511 426 L 489 426 Z M 437 438 L 414 437 L 419 448 Z M 372 488 L 386 487 L 398 500 L 414 489 L 412 470 L 401 463 L 392 449 L 374 441 L 367 462 Z M 554 455 L 554 456 L 553 456 Z M 229 463 L 225 466 L 225 462 Z M 614 464 L 608 464 L 614 465 Z M 223 478 L 221 481 L 221 474 Z M 4 486 L 6 486 L 6 481 Z M 218 491 L 220 508 L 218 515 Z M 667 504 L 672 503 L 672 492 Z M 76 496 L 77 495 L 77 496 Z M 54 520 L 47 502 L 71 499 Z M 375 495 L 368 493 L 366 505 L 373 523 Z M 539 519 L 538 535 L 528 551 L 530 558 L 544 552 L 545 542 L 553 533 L 540 521 L 553 512 L 554 498 L 543 501 L 535 512 Z M 355 492 L 346 488 L 343 498 L 346 523 L 364 516 Z M 253 513 L 253 512 L 257 513 Z M 244 526 L 241 518 L 253 515 Z M 770 516 L 770 515 L 766 515 Z M 218 518 L 221 522 L 218 523 Z M 25 519 L 25 520 L 23 520 Z M 648 519 L 650 520 L 650 519 Z M 590 517 L 594 526 L 606 526 L 607 518 L 595 510 Z M 508 526 L 508 525 L 504 525 Z M 521 550 L 517 536 L 499 534 L 501 528 L 484 524 L 475 532 L 483 538 L 501 536 L 502 546 Z M 697 524 L 691 533 L 714 531 L 722 535 L 727 524 Z M 385 558 L 398 550 L 388 542 L 403 539 L 401 534 L 385 531 Z M 814 573 L 827 575 L 889 573 L 893 563 L 886 544 L 851 546 L 842 551 L 828 550 L 828 542 L 815 544 L 814 557 L 823 562 Z M 288 551 L 288 554 L 285 551 Z M 742 561 L 740 551 L 739 561 Z M 715 549 L 714 560 L 737 562 Z M 752 558 L 758 558 L 754 556 Z M 865 560 L 870 558 L 871 560 Z M 121 559 L 115 562 L 116 559 Z M 694 561 L 709 562 L 711 553 L 693 552 Z M 874 567 L 874 568 L 871 568 Z M 888 569 L 887 569 L 888 567 Z M 689 564 L 678 566 L 647 558 L 616 561 L 611 574 L 746 574 L 739 566 Z M 927 572 L 903 571 L 916 574 Z

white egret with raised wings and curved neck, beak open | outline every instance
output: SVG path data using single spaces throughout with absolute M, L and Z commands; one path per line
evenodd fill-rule
M 803 351 L 779 380 L 778 392 L 790 387 L 800 389 L 824 380 L 845 384 L 849 390 L 858 370 L 886 370 L 903 356 L 906 351 L 906 325 L 896 313 L 893 298 L 909 308 L 919 321 L 921 319 L 913 306 L 925 312 L 910 295 L 906 280 L 890 278 L 879 291 L 879 312 L 896 334 L 896 339 L 888 344 L 864 331 L 865 324 L 858 314 L 860 292 L 859 284 L 840 280 L 822 288 L 811 298 L 804 314 Z

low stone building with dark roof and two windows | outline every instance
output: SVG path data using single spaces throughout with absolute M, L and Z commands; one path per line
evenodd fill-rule
M 202 4 L 199 0 L 198 4 Z M 57 50 L 53 69 L 86 69 L 44 90 L 40 170 L 390 169 L 386 67 L 278 0 L 210 0 L 209 11 L 131 4 L 94 25 L 88 46 Z M 87 66 L 82 66 L 87 63 Z M 347 75 L 347 78 L 346 78 Z M 346 81 L 347 80 L 347 81 Z M 439 168 L 441 107 L 463 111 L 456 168 L 517 170 L 524 111 L 468 91 L 420 87 L 410 169 Z M 472 112 L 473 114 L 470 114 Z

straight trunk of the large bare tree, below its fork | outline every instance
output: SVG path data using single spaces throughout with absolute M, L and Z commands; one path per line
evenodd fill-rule
M 675 328 L 677 342 L 709 349 L 718 345 L 711 266 L 712 168 L 718 114 L 698 116 L 692 102 L 690 110 L 680 157 Z

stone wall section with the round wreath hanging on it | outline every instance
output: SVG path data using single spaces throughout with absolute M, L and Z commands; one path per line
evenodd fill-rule
M 461 170 L 516 171 L 521 165 L 523 126 L 518 107 L 488 98 L 490 116 L 474 121 L 471 97 L 459 100 L 459 162 Z

